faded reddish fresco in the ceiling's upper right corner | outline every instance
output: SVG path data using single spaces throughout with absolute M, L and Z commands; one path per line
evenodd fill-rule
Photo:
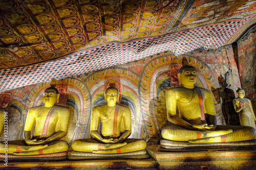
M 187 14 L 182 18 L 179 27 L 189 25 L 205 25 L 205 23 L 215 23 L 224 18 L 228 18 L 243 12 L 250 12 L 255 10 L 256 1 L 247 0 L 200 0 L 195 1 Z

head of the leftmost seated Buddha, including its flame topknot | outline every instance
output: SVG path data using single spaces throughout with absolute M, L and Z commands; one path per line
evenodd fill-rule
M 55 102 L 59 102 L 59 91 L 55 88 L 56 85 L 56 79 L 52 79 L 51 86 L 44 91 L 42 100 L 45 103 L 45 107 L 52 107 L 55 105 Z

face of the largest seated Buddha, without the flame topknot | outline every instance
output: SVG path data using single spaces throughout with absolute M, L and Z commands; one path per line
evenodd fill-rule
M 194 84 L 197 80 L 197 71 L 195 68 L 185 68 L 182 73 L 178 75 L 178 78 L 183 86 L 194 88 Z

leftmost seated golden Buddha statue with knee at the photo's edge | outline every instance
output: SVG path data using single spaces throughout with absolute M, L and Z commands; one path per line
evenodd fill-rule
M 51 87 L 44 91 L 42 99 L 45 105 L 29 109 L 24 128 L 25 140 L 8 141 L 8 154 L 40 155 L 68 150 L 68 142 L 59 139 L 67 135 L 70 110 L 55 105 L 59 100 L 55 86 L 56 80 L 53 79 Z M 31 139 L 34 125 L 35 131 Z M 0 142 L 0 153 L 6 153 L 4 149 L 5 143 Z

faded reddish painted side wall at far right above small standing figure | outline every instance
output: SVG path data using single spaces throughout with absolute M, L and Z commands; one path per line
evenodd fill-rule
M 241 84 L 245 98 L 256 110 L 256 27 L 252 27 L 238 40 L 238 62 Z

